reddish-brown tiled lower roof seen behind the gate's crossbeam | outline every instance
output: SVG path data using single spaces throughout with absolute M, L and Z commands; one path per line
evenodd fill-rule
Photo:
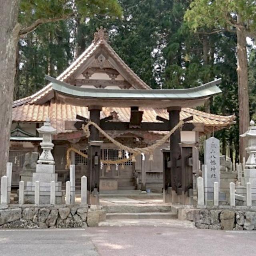
M 169 119 L 168 112 L 164 109 L 140 108 L 140 110 L 144 110 L 142 122 L 160 122 L 156 120 L 157 115 Z M 100 112 L 100 118 L 109 116 L 113 111 L 118 113 L 118 120 L 120 122 L 129 122 L 130 108 L 103 108 Z M 75 121 L 77 114 L 89 118 L 87 107 L 73 106 L 52 100 L 49 104 L 23 104 L 12 108 L 12 121 L 44 122 L 46 117 L 49 117 L 52 126 L 58 133 L 66 133 L 71 131 L 65 130 L 65 121 Z M 222 128 L 228 127 L 234 123 L 235 118 L 234 116 L 208 114 L 192 108 L 182 108 L 180 118 L 184 119 L 189 116 L 194 117 L 190 122 L 204 123 L 205 132 L 212 132 L 213 129 L 221 130 Z

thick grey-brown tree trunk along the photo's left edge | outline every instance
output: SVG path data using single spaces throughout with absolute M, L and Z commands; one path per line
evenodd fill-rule
M 0 176 L 6 174 L 12 124 L 12 97 L 15 86 L 18 43 L 19 0 L 0 0 Z

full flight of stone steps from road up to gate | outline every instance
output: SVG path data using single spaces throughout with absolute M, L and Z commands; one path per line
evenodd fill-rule
M 169 226 L 194 228 L 189 221 L 178 220 L 177 209 L 170 205 L 106 205 L 106 221 L 99 226 Z

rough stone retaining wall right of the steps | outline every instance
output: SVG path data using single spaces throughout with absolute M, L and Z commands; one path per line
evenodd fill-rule
M 197 228 L 216 230 L 256 230 L 256 208 L 237 206 L 179 209 L 180 220 L 190 220 Z

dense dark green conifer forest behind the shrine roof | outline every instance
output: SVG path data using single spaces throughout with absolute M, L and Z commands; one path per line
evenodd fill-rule
M 238 78 L 236 34 L 193 32 L 184 14 L 188 0 L 120 0 L 122 18 L 94 16 L 42 24 L 21 38 L 16 61 L 14 100 L 46 85 L 45 74 L 56 77 L 92 42 L 96 28 L 108 30 L 118 55 L 152 88 L 190 88 L 222 78 L 222 94 L 200 110 L 236 115 L 229 130 L 214 133 L 222 154 L 238 162 Z M 256 107 L 256 49 L 248 38 L 250 116 Z M 213 131 L 214 132 L 214 131 Z

